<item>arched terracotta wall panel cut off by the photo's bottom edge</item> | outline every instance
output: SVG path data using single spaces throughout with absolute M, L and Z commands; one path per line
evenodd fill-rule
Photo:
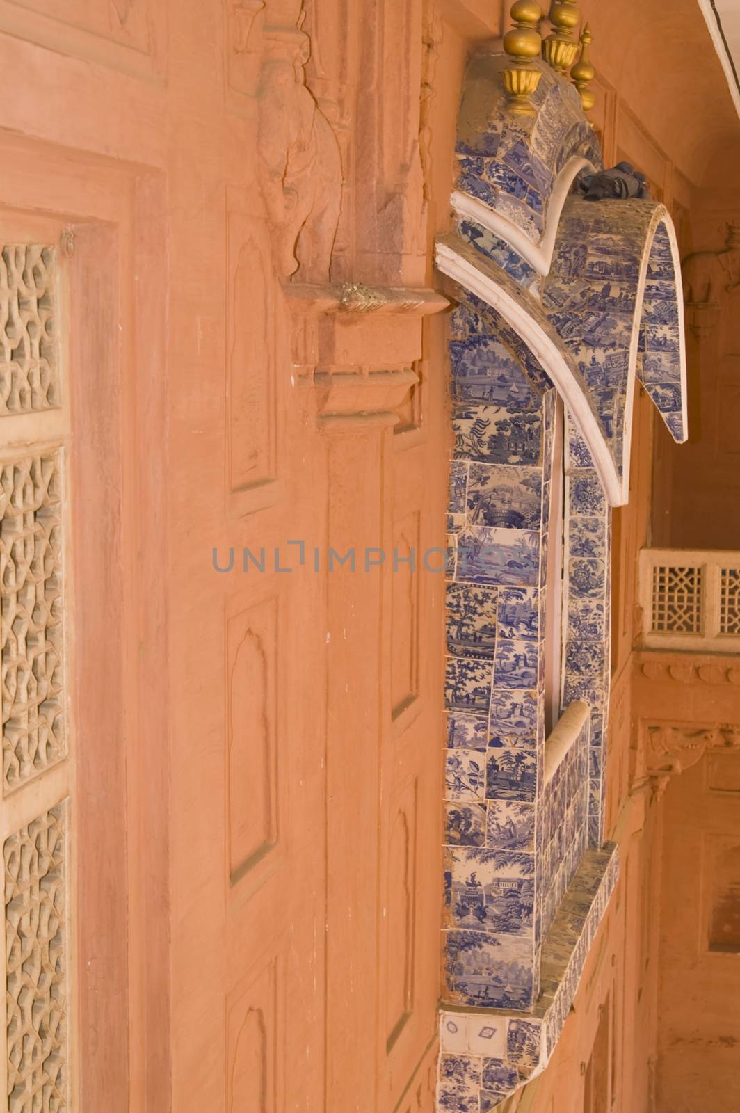
M 228 1113 L 277 1113 L 280 1054 L 278 961 L 272 958 L 227 1002 Z

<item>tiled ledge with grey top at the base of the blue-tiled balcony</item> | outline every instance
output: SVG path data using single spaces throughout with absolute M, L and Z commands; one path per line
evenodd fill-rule
M 615 844 L 586 850 L 544 940 L 531 1013 L 442 1013 L 437 1110 L 489 1113 L 545 1068 L 618 878 Z

